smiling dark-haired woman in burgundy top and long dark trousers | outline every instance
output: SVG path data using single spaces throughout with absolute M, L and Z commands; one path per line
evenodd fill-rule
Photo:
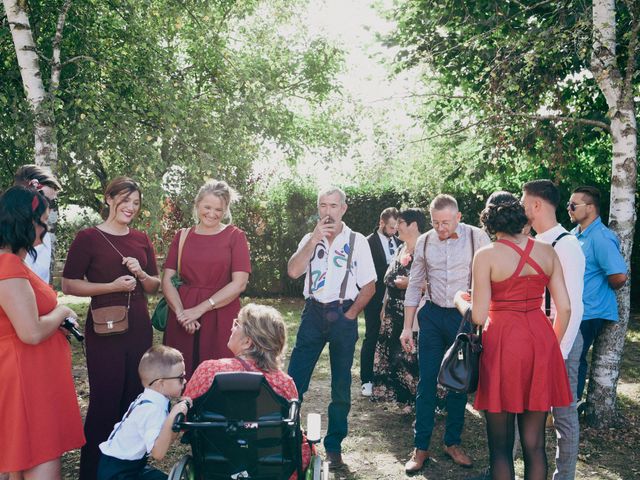
M 91 297 L 91 309 L 129 304 L 129 329 L 117 335 L 97 335 L 91 309 L 87 314 L 89 409 L 81 480 L 96 478 L 98 444 L 142 392 L 138 363 L 152 342 L 146 294 L 158 290 L 160 279 L 149 237 L 129 227 L 141 200 L 140 187 L 132 179 L 113 179 L 105 190 L 105 221 L 78 232 L 62 274 L 64 293 Z

